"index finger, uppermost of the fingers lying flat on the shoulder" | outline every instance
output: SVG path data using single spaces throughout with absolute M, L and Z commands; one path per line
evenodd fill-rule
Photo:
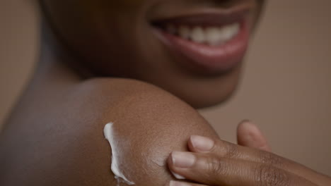
M 231 144 L 230 142 L 201 136 L 191 136 L 187 144 L 190 151 L 202 153 L 206 156 L 217 156 L 223 159 L 233 159 L 234 161 L 252 161 L 266 164 L 267 166 L 273 166 L 274 168 L 300 175 L 316 183 L 323 183 L 324 180 L 327 180 L 324 176 L 312 171 L 306 166 L 302 166 L 300 163 L 267 151 L 243 147 Z

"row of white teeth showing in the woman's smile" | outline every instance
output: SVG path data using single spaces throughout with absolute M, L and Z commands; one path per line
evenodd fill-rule
M 188 27 L 186 25 L 167 25 L 166 31 L 173 35 L 179 35 L 183 39 L 191 39 L 193 42 L 205 43 L 211 46 L 221 45 L 238 35 L 239 23 L 223 27 Z

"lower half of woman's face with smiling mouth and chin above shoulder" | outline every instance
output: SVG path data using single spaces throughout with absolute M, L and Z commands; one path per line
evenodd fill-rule
M 236 88 L 262 0 L 42 0 L 62 42 L 96 75 L 150 82 L 194 107 Z

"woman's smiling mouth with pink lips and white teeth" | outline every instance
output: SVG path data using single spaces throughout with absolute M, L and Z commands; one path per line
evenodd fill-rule
M 179 63 L 207 73 L 224 73 L 238 66 L 249 40 L 248 11 L 202 13 L 153 22 L 165 46 Z

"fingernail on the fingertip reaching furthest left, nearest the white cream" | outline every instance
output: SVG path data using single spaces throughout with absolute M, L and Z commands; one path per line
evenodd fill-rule
M 190 168 L 195 162 L 195 156 L 190 152 L 173 151 L 171 161 L 178 168 Z

